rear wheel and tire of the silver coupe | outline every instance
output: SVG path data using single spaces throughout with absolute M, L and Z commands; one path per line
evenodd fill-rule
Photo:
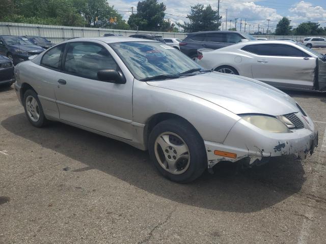
M 26 90 L 23 97 L 25 114 L 30 123 L 35 127 L 42 127 L 48 120 L 44 116 L 43 108 L 34 90 Z

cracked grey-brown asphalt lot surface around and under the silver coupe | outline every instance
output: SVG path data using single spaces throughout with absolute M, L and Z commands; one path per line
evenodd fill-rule
M 180 185 L 146 151 L 32 127 L 0 88 L 0 243 L 325 243 L 326 94 L 289 94 L 316 121 L 313 156 L 218 165 Z

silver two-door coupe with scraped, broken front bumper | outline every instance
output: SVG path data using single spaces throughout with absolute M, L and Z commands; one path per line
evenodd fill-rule
M 265 83 L 205 71 L 166 44 L 79 38 L 15 68 L 31 124 L 57 120 L 149 150 L 167 178 L 188 182 L 221 161 L 304 159 L 317 145 L 311 118 Z

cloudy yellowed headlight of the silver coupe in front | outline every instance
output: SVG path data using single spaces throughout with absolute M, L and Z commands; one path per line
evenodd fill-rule
M 264 115 L 243 115 L 242 119 L 261 130 L 273 133 L 291 133 L 287 126 L 277 118 Z

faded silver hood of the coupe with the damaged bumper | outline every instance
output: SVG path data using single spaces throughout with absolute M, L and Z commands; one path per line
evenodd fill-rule
M 147 83 L 200 97 L 235 114 L 277 116 L 298 111 L 295 101 L 281 90 L 242 76 L 210 72 Z

